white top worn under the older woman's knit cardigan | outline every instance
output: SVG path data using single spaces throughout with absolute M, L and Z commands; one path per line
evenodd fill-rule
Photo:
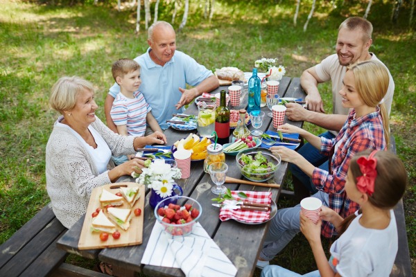
M 88 126 L 89 132 L 91 132 L 92 136 L 94 136 L 94 140 L 97 144 L 97 148 L 94 149 L 91 145 L 85 142 L 85 139 L 83 139 L 83 137 L 80 136 L 80 134 L 78 134 L 77 132 L 75 132 L 71 127 L 69 127 L 66 124 L 60 123 L 60 120 L 58 120 L 57 124 L 71 130 L 74 136 L 76 136 L 76 138 L 79 139 L 81 143 L 83 143 L 85 149 L 87 149 L 89 155 L 92 157 L 92 161 L 94 161 L 94 165 L 96 166 L 100 174 L 107 170 L 108 162 L 111 159 L 111 150 L 108 147 L 107 143 L 105 143 L 103 137 L 100 134 L 98 134 L 96 129 L 94 129 L 91 125 Z

